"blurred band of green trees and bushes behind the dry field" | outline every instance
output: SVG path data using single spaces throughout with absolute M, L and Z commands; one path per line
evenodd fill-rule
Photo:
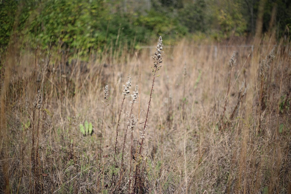
M 259 6 L 262 31 L 278 37 L 291 27 L 289 0 L 0 0 L 0 49 L 23 48 L 88 53 L 149 44 L 161 35 L 165 44 L 202 34 L 216 40 L 254 35 Z M 13 38 L 11 38 L 13 37 Z

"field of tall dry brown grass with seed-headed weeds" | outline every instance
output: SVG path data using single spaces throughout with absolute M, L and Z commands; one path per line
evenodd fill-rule
M 253 42 L 88 62 L 12 46 L 0 193 L 291 193 L 290 42 Z

